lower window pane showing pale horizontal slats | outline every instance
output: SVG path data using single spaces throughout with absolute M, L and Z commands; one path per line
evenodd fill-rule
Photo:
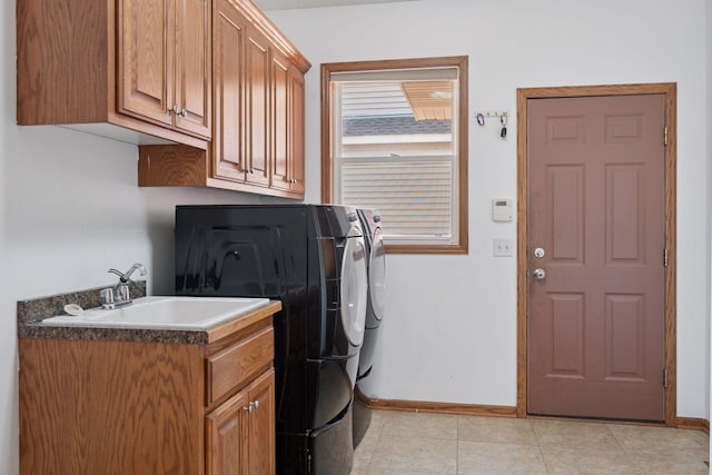
M 378 210 L 392 238 L 449 240 L 454 230 L 453 181 L 452 158 L 345 160 L 340 202 Z

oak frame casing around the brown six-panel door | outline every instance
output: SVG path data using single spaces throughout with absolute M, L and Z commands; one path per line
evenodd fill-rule
M 641 85 L 612 86 L 567 86 L 553 88 L 520 88 L 516 98 L 517 116 L 517 378 L 516 414 L 527 416 L 527 314 L 528 314 L 528 140 L 527 101 L 530 99 L 551 99 L 567 97 L 664 95 L 665 127 L 665 249 L 668 266 L 665 274 L 665 340 L 664 364 L 668 370 L 665 387 L 665 425 L 676 426 L 676 105 L 678 86 L 675 82 L 655 82 Z M 661 130 L 661 140 L 663 131 Z M 663 259 L 663 256 L 661 256 Z

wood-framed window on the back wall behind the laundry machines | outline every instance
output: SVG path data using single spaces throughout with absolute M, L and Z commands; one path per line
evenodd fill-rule
M 373 208 L 388 253 L 467 253 L 467 58 L 322 65 L 322 200 Z

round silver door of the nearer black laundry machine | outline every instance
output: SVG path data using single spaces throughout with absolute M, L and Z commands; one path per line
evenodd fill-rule
M 366 246 L 360 236 L 346 239 L 342 260 L 340 298 L 342 326 L 346 338 L 352 345 L 360 346 L 366 329 L 366 303 L 368 301 Z

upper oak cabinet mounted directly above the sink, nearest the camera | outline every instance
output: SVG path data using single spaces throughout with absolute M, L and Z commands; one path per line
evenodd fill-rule
M 210 0 L 18 0 L 17 46 L 18 123 L 207 148 Z

